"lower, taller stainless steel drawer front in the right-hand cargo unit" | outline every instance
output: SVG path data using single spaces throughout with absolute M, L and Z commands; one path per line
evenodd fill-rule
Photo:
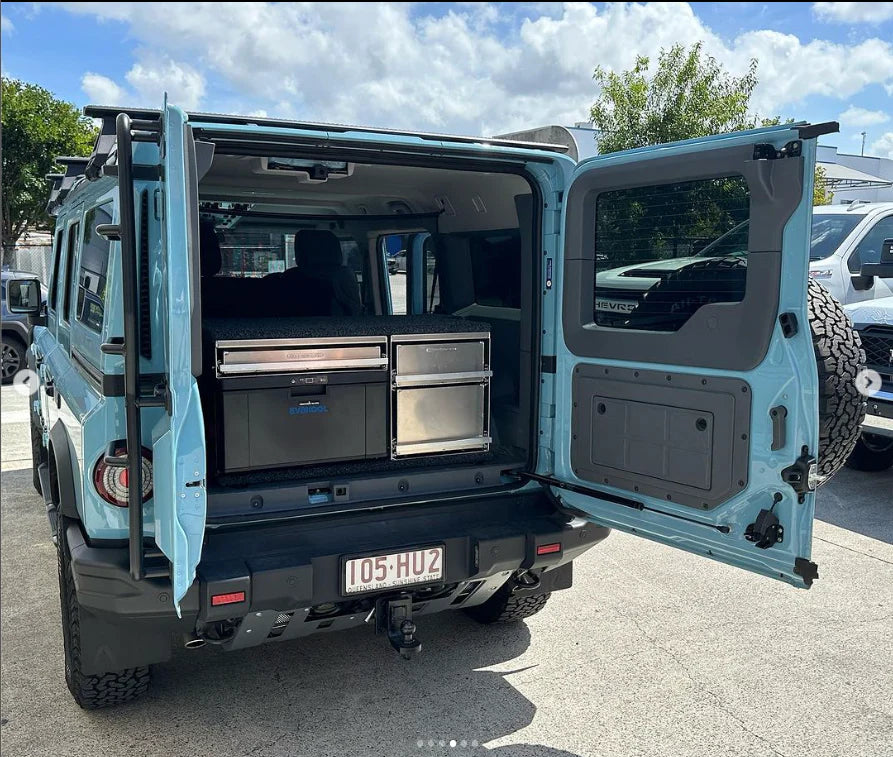
M 487 387 L 483 384 L 397 389 L 395 453 L 483 449 Z

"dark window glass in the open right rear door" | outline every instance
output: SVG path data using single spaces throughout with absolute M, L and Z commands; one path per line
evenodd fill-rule
M 595 323 L 677 331 L 704 305 L 741 302 L 749 217 L 740 176 L 600 193 Z

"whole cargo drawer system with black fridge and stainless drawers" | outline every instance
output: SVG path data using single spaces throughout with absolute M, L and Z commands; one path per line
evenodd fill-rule
M 489 332 L 429 317 L 419 320 L 432 333 L 392 335 L 416 325 L 408 320 L 209 323 L 212 467 L 238 473 L 487 451 Z

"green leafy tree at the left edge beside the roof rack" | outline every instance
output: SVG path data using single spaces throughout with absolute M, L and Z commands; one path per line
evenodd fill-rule
M 29 226 L 49 224 L 46 174 L 59 171 L 57 155 L 89 155 L 93 122 L 72 104 L 17 79 L 2 80 L 3 262 Z

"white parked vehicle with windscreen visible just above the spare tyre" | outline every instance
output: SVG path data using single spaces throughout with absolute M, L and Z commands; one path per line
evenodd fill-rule
M 821 205 L 812 211 L 809 275 L 849 305 L 893 295 L 893 278 L 862 276 L 893 238 L 893 202 Z

